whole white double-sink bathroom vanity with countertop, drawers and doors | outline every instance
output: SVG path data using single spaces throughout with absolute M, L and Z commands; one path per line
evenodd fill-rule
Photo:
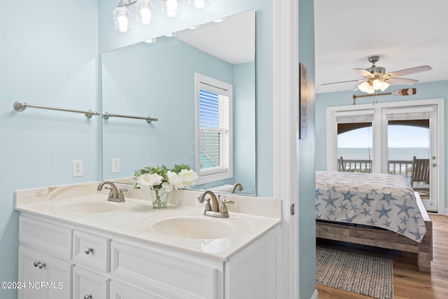
M 279 200 L 222 195 L 235 204 L 215 218 L 200 191 L 153 209 L 98 183 L 16 191 L 19 298 L 277 298 Z

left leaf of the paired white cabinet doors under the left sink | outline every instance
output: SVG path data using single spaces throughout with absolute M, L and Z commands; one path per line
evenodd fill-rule
M 42 258 L 43 254 L 41 252 L 27 246 L 19 246 L 19 281 L 25 283 L 25 288 L 19 288 L 18 290 L 19 299 L 45 298 L 45 289 L 31 287 L 34 286 L 34 282 L 44 281 L 45 279 L 45 271 L 38 267 Z

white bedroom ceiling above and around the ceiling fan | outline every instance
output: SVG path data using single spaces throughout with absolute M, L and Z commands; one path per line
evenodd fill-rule
M 353 90 L 379 55 L 386 73 L 429 65 L 403 76 L 419 82 L 448 80 L 447 0 L 314 0 L 316 93 Z M 393 86 L 387 91 L 393 91 Z

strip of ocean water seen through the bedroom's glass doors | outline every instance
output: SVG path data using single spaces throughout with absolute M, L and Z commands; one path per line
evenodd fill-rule
M 389 148 L 388 160 L 412 160 L 429 158 L 429 148 Z M 338 148 L 337 157 L 344 160 L 371 160 L 372 148 Z

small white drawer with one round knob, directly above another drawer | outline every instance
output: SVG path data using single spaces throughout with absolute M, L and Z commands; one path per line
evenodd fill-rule
M 82 230 L 73 230 L 73 260 L 95 270 L 109 272 L 111 239 Z

